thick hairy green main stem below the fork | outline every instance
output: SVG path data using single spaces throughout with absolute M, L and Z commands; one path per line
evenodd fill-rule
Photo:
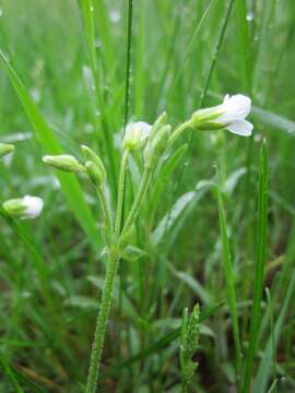
M 92 345 L 91 361 L 90 361 L 87 385 L 85 393 L 96 392 L 99 366 L 101 366 L 104 341 L 105 341 L 106 324 L 109 315 L 109 310 L 111 307 L 118 260 L 119 260 L 118 252 L 114 252 L 110 250 L 109 261 L 107 264 L 107 271 L 105 277 L 105 286 L 101 301 L 101 308 L 96 320 L 96 327 L 95 327 L 95 334 Z

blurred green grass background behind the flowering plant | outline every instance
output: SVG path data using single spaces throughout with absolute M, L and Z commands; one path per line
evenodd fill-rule
M 255 281 L 258 155 L 266 136 L 270 202 L 264 286 L 270 288 L 272 305 L 264 297 L 262 312 L 267 317 L 256 358 L 259 367 L 269 337 L 275 335 L 269 311 L 276 323 L 294 266 L 294 2 L 133 1 L 128 102 L 130 2 L 94 1 L 98 92 L 94 90 L 82 4 L 73 0 L 0 0 L 0 49 L 63 151 L 80 157 L 79 145 L 86 143 L 104 157 L 113 198 L 127 104 L 129 120 L 153 122 L 165 109 L 176 126 L 200 104 L 215 105 L 226 93 L 247 94 L 253 103 L 253 138 L 188 131 L 184 136 L 189 142 L 186 155 L 167 183 L 163 181 L 162 193 L 157 189 L 158 194 L 146 201 L 133 239 L 135 252 L 120 266 L 104 357 L 105 390 L 179 391 L 178 340 L 164 348 L 155 346 L 149 357 L 141 355 L 132 366 L 123 367 L 121 361 L 177 326 L 184 307 L 200 302 L 202 310 L 226 298 L 216 202 L 210 191 L 196 191 L 197 182 L 214 176 L 214 163 L 226 191 L 246 352 Z M 1 218 L 1 364 L 13 367 L 12 374 L 25 392 L 80 392 L 105 271 L 103 246 L 94 247 L 52 171 L 42 164 L 45 150 L 4 68 L 0 92 L 0 140 L 16 146 L 16 154 L 0 164 L 1 201 L 26 193 L 45 200 L 42 217 L 20 227 L 43 260 L 45 281 L 27 247 Z M 103 109 L 97 108 L 96 93 Z M 130 164 L 133 188 L 139 179 L 137 163 Z M 93 189 L 80 180 L 99 223 Z M 131 198 L 129 191 L 127 206 Z M 162 221 L 165 215 L 170 217 L 168 224 Z M 293 286 L 290 290 L 293 294 Z M 290 307 L 272 346 L 270 369 L 274 373 L 268 373 L 267 386 L 276 381 L 278 392 L 291 392 L 295 386 L 293 330 L 294 310 Z M 203 323 L 197 358 L 200 366 L 192 391 L 228 392 L 234 385 L 234 353 L 226 306 Z M 39 388 L 32 388 L 32 381 Z M 0 383 L 2 392 L 13 391 L 7 374 Z M 267 392 L 267 386 L 257 392 Z

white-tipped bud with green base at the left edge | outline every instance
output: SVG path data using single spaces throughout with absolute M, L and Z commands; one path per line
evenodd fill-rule
M 25 195 L 3 202 L 4 211 L 14 218 L 36 218 L 43 210 L 43 200 L 38 196 Z

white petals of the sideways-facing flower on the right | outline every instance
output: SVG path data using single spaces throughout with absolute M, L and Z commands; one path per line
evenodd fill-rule
M 249 136 L 252 133 L 253 126 L 245 118 L 250 114 L 251 99 L 241 94 L 224 97 L 223 104 L 217 108 L 222 115 L 214 119 L 216 122 L 224 123 L 226 129 L 241 136 Z

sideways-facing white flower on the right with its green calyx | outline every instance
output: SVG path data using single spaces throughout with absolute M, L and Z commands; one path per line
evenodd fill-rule
M 241 94 L 232 97 L 227 94 L 223 104 L 197 110 L 191 117 L 191 126 L 200 130 L 226 128 L 237 135 L 249 136 L 253 126 L 245 120 L 251 110 L 251 99 Z

